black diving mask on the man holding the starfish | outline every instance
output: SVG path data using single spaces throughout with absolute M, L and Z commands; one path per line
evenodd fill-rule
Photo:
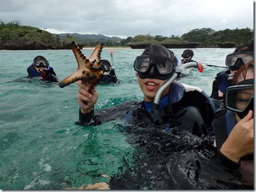
M 149 56 L 138 56 L 134 61 L 134 70 L 138 72 L 141 79 L 167 80 L 175 72 L 175 62 L 173 59 L 151 61 Z

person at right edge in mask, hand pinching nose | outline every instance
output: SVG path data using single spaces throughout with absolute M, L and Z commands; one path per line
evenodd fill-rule
M 214 119 L 217 157 L 254 186 L 254 61 L 243 65 L 224 94 L 227 110 Z

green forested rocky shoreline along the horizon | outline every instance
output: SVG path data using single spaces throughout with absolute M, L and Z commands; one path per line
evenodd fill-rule
M 104 35 L 88 34 L 51 34 L 48 31 L 22 26 L 20 21 L 4 23 L 0 21 L 0 50 L 60 50 L 70 49 L 70 42 L 78 43 L 80 48 L 94 47 L 99 42 L 105 46 L 130 46 L 131 48 L 145 48 L 152 43 L 160 43 L 167 48 L 233 48 L 247 43 L 254 38 L 254 30 L 225 29 L 214 31 L 210 28 L 193 29 L 186 34 L 151 36 L 136 35 L 121 39 Z

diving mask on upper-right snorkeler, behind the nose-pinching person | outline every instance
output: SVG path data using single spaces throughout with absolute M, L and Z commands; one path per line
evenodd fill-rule
M 225 64 L 230 67 L 230 70 L 235 71 L 252 60 L 254 60 L 253 52 L 232 53 L 227 55 Z

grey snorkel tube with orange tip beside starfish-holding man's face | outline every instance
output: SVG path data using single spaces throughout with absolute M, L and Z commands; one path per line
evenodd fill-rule
M 155 124 L 161 124 L 164 120 L 164 111 L 159 111 L 159 102 L 162 93 L 164 92 L 165 89 L 167 89 L 168 86 L 170 86 L 173 81 L 178 76 L 178 73 L 182 72 L 184 68 L 197 68 L 199 72 L 203 72 L 203 64 L 201 62 L 188 62 L 186 64 L 181 65 L 180 67 L 176 67 L 175 72 L 171 75 L 170 79 L 168 79 L 160 88 L 157 90 L 157 93 L 154 97 L 154 103 L 152 105 L 152 113 L 151 117 L 154 120 Z

